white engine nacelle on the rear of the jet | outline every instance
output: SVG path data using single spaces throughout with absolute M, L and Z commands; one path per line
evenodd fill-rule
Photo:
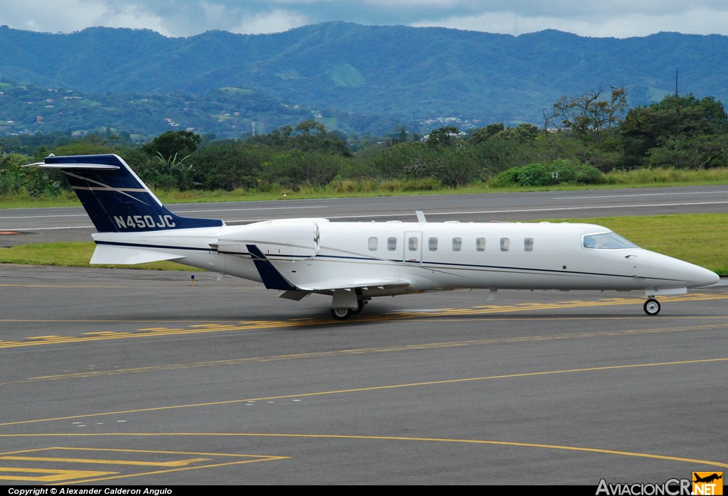
M 248 244 L 255 244 L 264 255 L 271 257 L 315 257 L 319 251 L 319 222 L 315 220 L 266 220 L 264 222 L 228 228 L 217 242 L 219 253 L 248 253 Z

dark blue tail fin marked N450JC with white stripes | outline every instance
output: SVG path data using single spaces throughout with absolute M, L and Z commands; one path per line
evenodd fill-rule
M 63 171 L 100 233 L 225 225 L 218 219 L 173 214 L 118 155 L 48 156 L 25 167 Z

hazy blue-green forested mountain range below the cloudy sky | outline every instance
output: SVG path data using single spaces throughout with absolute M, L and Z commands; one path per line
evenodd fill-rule
M 560 97 L 600 87 L 627 88 L 631 106 L 660 100 L 675 92 L 677 70 L 679 92 L 726 102 L 727 56 L 728 36 L 679 33 L 510 36 L 336 22 L 167 38 L 2 26 L 0 133 L 179 127 L 236 137 L 312 118 L 373 135 L 400 125 L 542 125 Z

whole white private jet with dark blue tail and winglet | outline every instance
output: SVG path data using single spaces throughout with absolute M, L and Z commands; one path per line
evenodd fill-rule
M 90 263 L 170 260 L 264 284 L 280 297 L 331 296 L 347 319 L 373 297 L 451 289 L 641 291 L 657 297 L 719 281 L 705 268 L 642 249 L 582 223 L 330 222 L 325 218 L 226 225 L 170 212 L 117 155 L 48 156 L 25 167 L 60 169 L 98 233 Z

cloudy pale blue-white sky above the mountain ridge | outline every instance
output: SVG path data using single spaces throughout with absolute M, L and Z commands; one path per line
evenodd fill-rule
M 0 0 L 0 25 L 47 33 L 90 26 L 165 36 L 259 34 L 344 20 L 522 34 L 558 29 L 626 38 L 659 31 L 728 35 L 727 0 Z

